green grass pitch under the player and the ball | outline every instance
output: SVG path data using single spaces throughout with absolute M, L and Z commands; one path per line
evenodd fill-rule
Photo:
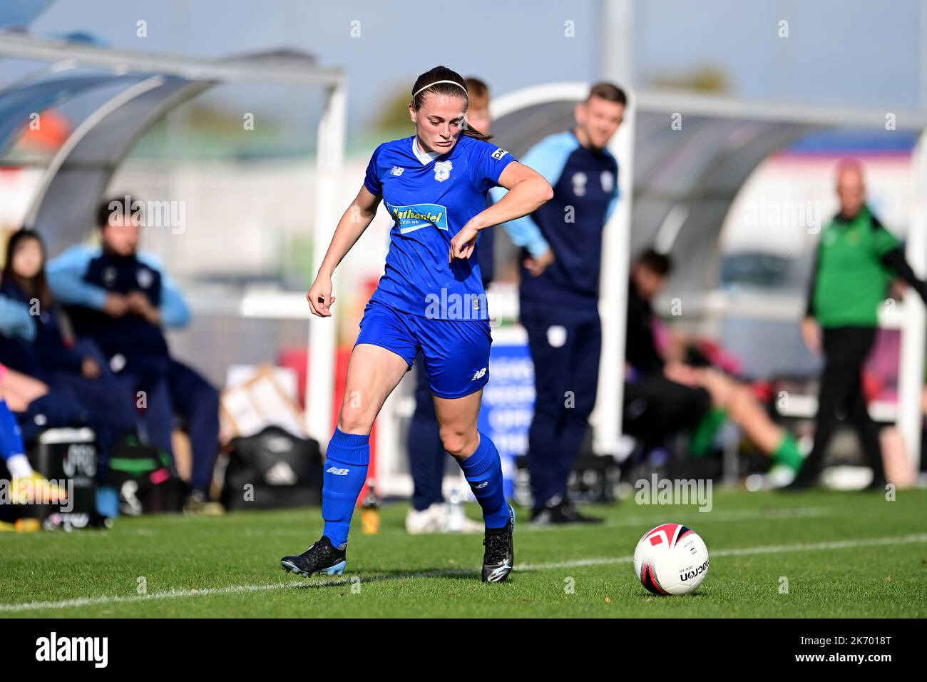
M 280 569 L 281 556 L 318 538 L 319 509 L 2 534 L 0 616 L 927 616 L 927 491 L 887 501 L 716 490 L 707 513 L 629 499 L 588 508 L 606 517 L 603 526 L 521 522 L 515 571 L 498 585 L 479 581 L 481 535 L 409 536 L 405 511 L 404 503 L 387 505 L 378 535 L 361 534 L 355 515 L 340 579 Z M 477 511 L 468 508 L 475 518 Z M 705 538 L 711 567 L 692 595 L 653 597 L 635 579 L 630 555 L 641 534 L 664 521 Z

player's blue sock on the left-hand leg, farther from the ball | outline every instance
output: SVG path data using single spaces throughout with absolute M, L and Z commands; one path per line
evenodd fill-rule
M 368 464 L 370 435 L 345 433 L 336 427 L 325 453 L 322 518 L 324 536 L 339 549 L 348 545 L 350 517 L 367 480 Z

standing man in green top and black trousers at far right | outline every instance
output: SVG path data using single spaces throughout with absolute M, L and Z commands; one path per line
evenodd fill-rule
M 807 347 L 824 355 L 814 446 L 788 486 L 792 490 L 816 483 L 838 411 L 845 412 L 859 434 L 872 468 L 870 488 L 884 488 L 879 427 L 862 391 L 863 363 L 875 341 L 879 308 L 896 279 L 927 301 L 927 287 L 914 275 L 900 242 L 866 204 L 862 165 L 842 161 L 836 176 L 840 212 L 821 233 L 802 322 Z

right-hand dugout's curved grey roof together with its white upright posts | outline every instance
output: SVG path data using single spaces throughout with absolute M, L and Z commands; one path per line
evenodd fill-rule
M 523 155 L 543 136 L 568 128 L 573 109 L 589 85 L 544 84 L 496 98 L 490 105 L 493 133 L 514 155 Z M 622 191 L 603 238 L 600 295 L 603 353 L 599 390 L 591 420 L 596 449 L 614 452 L 620 433 L 624 326 L 629 256 L 654 245 L 675 256 L 671 286 L 696 300 L 717 288 L 718 238 L 725 215 L 756 166 L 775 151 L 821 129 L 862 128 L 892 135 L 886 111 L 794 107 L 741 102 L 683 92 L 630 92 L 626 123 L 612 142 Z M 676 115 L 674 117 L 674 114 Z M 681 117 L 681 118 L 679 118 Z M 674 128 L 676 118 L 681 126 Z M 927 182 L 927 115 L 897 112 L 895 130 L 920 135 L 914 154 L 916 192 L 924 197 Z M 629 187 L 630 186 L 630 187 Z M 914 267 L 927 269 L 927 209 L 915 202 L 908 240 Z M 912 252 L 913 251 L 913 252 Z M 923 309 L 905 306 L 903 364 L 899 381 L 898 426 L 915 464 L 920 454 Z M 692 311 L 692 304 L 687 305 Z M 617 311 L 622 311 L 618 313 Z

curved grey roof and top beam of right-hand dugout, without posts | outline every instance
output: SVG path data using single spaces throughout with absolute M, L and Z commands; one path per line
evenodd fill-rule
M 586 84 L 551 84 L 503 96 L 492 132 L 515 157 L 573 124 Z M 832 127 L 882 130 L 884 111 L 745 103 L 686 93 L 629 94 L 636 107 L 629 252 L 649 246 L 674 256 L 673 285 L 714 290 L 718 238 L 747 178 L 770 154 Z M 681 127 L 671 126 L 681 114 Z M 897 130 L 921 132 L 924 114 L 897 114 Z M 621 159 L 619 158 L 619 173 Z

